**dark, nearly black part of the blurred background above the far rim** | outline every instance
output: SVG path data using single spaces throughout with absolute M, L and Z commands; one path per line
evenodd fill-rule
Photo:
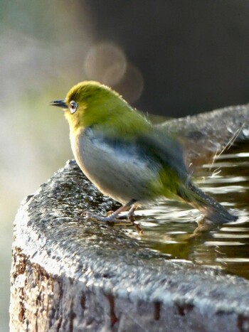
M 87 3 L 95 39 L 143 75 L 137 108 L 179 117 L 248 102 L 249 1 Z

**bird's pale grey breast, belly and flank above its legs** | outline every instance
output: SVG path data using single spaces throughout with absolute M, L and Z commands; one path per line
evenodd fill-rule
M 160 196 L 161 165 L 135 143 L 108 139 L 90 127 L 70 134 L 70 141 L 81 170 L 102 193 L 120 203 Z

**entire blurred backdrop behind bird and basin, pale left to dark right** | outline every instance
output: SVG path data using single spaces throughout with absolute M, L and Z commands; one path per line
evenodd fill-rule
M 0 1 L 1 331 L 16 210 L 72 157 L 48 102 L 99 80 L 166 117 L 247 103 L 248 33 L 248 0 Z

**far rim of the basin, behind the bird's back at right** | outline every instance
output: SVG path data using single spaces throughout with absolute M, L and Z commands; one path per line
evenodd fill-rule
M 249 139 L 249 105 L 172 119 L 158 127 L 181 140 L 187 151 L 187 164 L 204 164 L 231 140 L 238 144 Z

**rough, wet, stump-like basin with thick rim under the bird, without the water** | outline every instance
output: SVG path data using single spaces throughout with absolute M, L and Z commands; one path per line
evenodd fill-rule
M 242 124 L 237 141 L 248 139 L 248 116 L 248 106 L 234 107 L 161 128 L 179 128 L 190 143 L 199 133 L 221 149 Z M 126 227 L 82 214 L 114 208 L 75 161 L 23 200 L 14 224 L 11 331 L 249 331 L 248 280 L 173 262 Z

